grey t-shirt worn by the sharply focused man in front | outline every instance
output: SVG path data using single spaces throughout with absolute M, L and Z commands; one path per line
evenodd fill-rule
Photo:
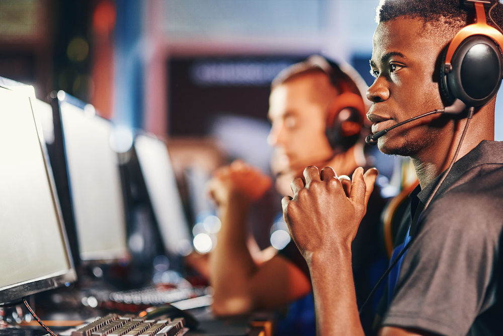
M 418 221 L 382 325 L 502 334 L 503 143 L 482 141 L 459 159 L 437 195 Z

